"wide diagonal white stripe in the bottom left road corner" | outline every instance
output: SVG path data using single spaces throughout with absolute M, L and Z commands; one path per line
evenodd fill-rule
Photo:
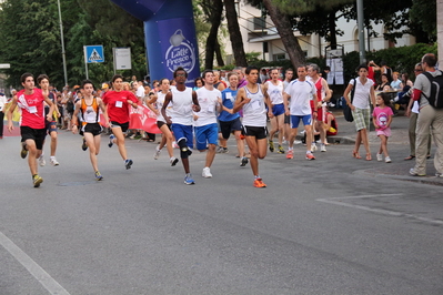
M 70 295 L 56 279 L 53 279 L 40 265 L 19 248 L 8 236 L 0 232 L 0 245 L 2 245 L 28 272 L 39 281 L 50 293 L 57 295 Z

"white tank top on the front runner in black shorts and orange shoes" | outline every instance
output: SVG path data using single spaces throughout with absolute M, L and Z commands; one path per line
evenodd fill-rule
M 244 92 L 251 101 L 243 105 L 243 125 L 245 126 L 266 126 L 266 108 L 264 105 L 264 95 L 262 93 L 261 84 L 258 85 L 258 91 L 252 93 L 246 87 Z

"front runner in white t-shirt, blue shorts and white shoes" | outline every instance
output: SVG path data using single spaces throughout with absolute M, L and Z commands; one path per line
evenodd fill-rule
M 204 87 L 197 90 L 197 99 L 200 104 L 200 112 L 195 113 L 194 130 L 197 149 L 207 152 L 205 165 L 202 176 L 211 179 L 211 165 L 215 157 L 215 146 L 219 139 L 219 128 L 217 125 L 217 112 L 222 110 L 222 99 L 220 90 L 214 88 L 214 73 L 205 70 L 202 74 Z

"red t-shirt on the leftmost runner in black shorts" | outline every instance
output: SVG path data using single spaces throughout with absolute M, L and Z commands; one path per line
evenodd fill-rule
M 23 105 L 22 100 L 24 99 L 26 104 Z M 24 90 L 20 90 L 17 93 L 17 102 L 21 110 L 20 126 L 29 126 L 32 129 L 44 129 L 44 98 L 41 93 L 41 89 L 34 88 L 32 94 L 24 94 Z

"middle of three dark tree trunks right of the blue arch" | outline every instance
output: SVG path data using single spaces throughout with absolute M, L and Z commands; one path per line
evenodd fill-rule
M 238 67 L 248 67 L 246 54 L 244 53 L 243 39 L 240 32 L 234 0 L 224 0 L 224 8 L 226 10 L 228 30 L 235 64 Z

